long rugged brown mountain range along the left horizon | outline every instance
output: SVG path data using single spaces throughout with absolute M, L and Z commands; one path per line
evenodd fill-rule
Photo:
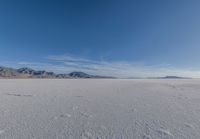
M 31 68 L 0 67 L 0 78 L 112 78 L 106 76 L 89 75 L 84 72 L 71 72 L 69 74 L 55 74 L 45 70 L 37 71 Z

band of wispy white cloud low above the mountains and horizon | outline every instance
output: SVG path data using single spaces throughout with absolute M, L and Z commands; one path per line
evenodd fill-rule
M 18 67 L 28 66 L 56 73 L 83 71 L 94 75 L 115 77 L 160 77 L 166 75 L 200 77 L 199 70 L 174 68 L 169 64 L 145 65 L 144 63 L 125 61 L 98 61 L 70 55 L 48 56 L 46 60 L 48 62 L 18 62 L 17 64 Z

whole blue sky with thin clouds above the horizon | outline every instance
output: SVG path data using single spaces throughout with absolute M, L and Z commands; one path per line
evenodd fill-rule
M 200 77 L 200 1 L 2 0 L 0 64 Z

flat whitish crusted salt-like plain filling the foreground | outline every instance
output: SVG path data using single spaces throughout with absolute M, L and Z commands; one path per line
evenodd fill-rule
M 0 139 L 173 138 L 200 138 L 200 80 L 0 80 Z

